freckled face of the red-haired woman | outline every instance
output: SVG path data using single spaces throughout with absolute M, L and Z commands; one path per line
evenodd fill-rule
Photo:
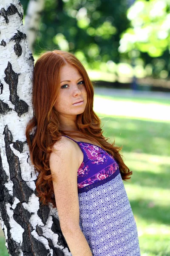
M 58 113 L 65 117 L 83 113 L 87 104 L 87 91 L 82 75 L 76 67 L 65 64 L 61 68 L 60 79 L 59 96 L 54 105 Z

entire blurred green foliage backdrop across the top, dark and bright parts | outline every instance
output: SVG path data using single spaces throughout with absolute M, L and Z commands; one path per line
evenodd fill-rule
M 34 55 L 62 49 L 88 70 L 168 79 L 169 12 L 169 0 L 45 0 Z

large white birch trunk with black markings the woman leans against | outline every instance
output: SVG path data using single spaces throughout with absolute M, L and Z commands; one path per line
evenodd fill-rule
M 11 256 L 71 256 L 57 209 L 41 206 L 25 137 L 34 58 L 19 0 L 0 0 L 0 224 Z

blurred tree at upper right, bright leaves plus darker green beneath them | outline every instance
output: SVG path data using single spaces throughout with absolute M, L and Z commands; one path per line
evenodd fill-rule
M 119 52 L 146 65 L 146 75 L 170 76 L 170 2 L 137 0 L 128 9 L 130 27 L 122 33 Z

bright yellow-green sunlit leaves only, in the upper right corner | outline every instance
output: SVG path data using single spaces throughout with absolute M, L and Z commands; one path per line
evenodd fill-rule
M 139 49 L 151 57 L 170 49 L 170 2 L 137 0 L 127 12 L 131 28 L 124 32 L 119 51 Z

